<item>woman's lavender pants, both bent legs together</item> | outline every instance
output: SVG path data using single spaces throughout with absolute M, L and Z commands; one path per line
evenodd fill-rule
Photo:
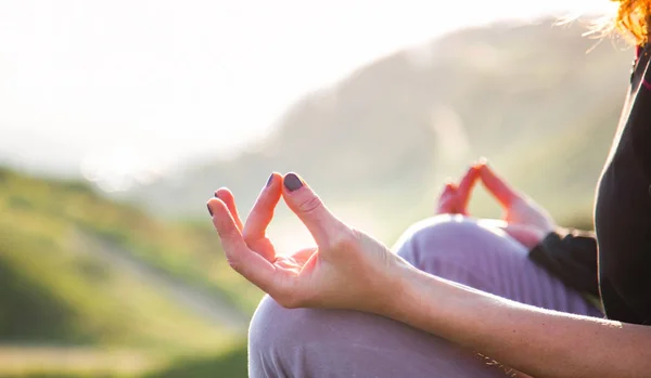
M 509 236 L 470 219 L 417 223 L 396 246 L 414 266 L 519 302 L 574 314 L 599 310 L 534 264 Z M 281 308 L 265 297 L 251 323 L 257 377 L 505 377 L 508 368 L 437 336 L 355 311 Z

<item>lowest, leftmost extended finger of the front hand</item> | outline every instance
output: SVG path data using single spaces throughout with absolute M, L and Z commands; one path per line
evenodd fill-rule
M 268 292 L 276 273 L 273 265 L 260 255 L 248 249 L 234 219 L 221 199 L 212 198 L 207 205 L 230 266 L 255 286 Z

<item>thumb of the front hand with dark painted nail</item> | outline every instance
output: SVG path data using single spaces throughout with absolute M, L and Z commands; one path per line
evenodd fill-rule
M 296 173 L 283 178 L 282 196 L 290 209 L 301 219 L 319 247 L 335 243 L 349 229 L 323 205 Z

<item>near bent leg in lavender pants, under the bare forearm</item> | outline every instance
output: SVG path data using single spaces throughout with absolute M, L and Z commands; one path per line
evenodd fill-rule
M 248 375 L 503 378 L 505 370 L 442 338 L 382 316 L 288 310 L 265 297 L 251 324 Z

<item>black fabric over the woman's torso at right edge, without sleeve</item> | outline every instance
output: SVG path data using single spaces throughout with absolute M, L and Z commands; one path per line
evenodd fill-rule
M 651 322 L 651 71 L 639 49 L 598 190 L 599 285 L 609 318 Z

